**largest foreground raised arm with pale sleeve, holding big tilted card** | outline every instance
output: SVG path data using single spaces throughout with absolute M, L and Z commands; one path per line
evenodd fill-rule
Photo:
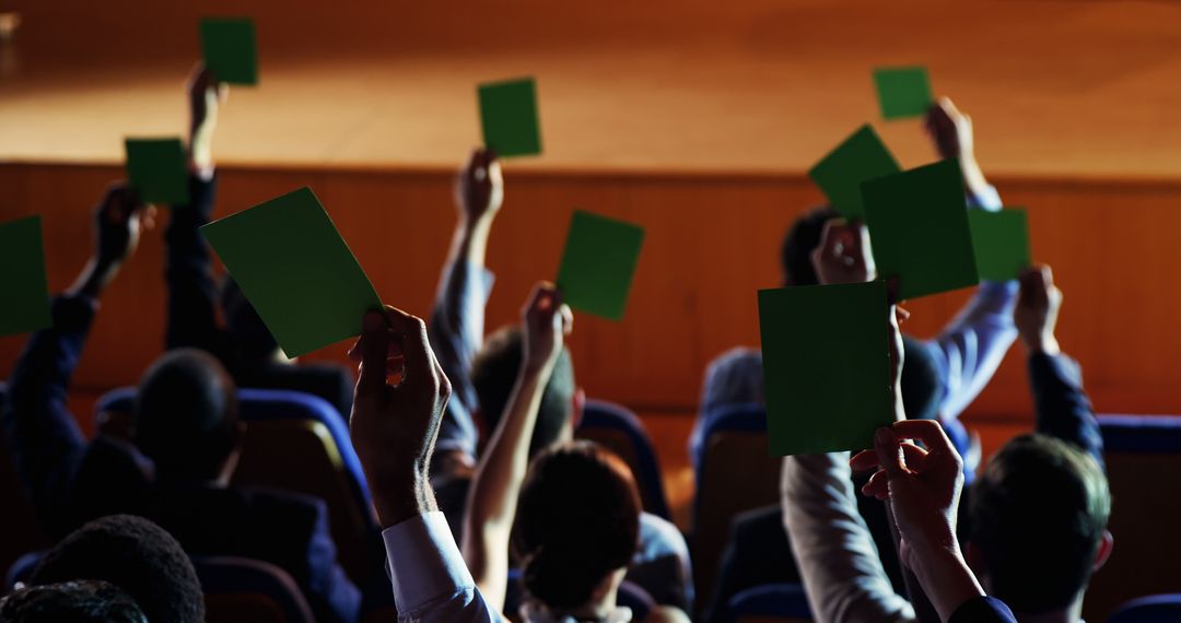
M 392 307 L 365 315 L 350 431 L 381 524 L 399 622 L 500 622 L 476 588 L 429 484 L 451 383 L 426 324 Z M 397 385 L 387 379 L 397 378 Z

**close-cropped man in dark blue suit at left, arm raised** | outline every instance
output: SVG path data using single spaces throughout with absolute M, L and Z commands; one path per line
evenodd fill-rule
M 228 486 L 241 427 L 236 387 L 216 359 L 180 349 L 149 368 L 132 419 L 136 448 L 103 435 L 86 442 L 70 414 L 70 378 L 103 291 L 136 249 L 142 214 L 125 186 L 107 190 L 92 260 L 53 301 L 52 328 L 30 337 L 8 382 L 0 421 L 43 526 L 64 535 L 103 514 L 144 514 L 193 555 L 282 568 L 318 618 L 354 621 L 360 596 L 337 564 L 324 501 Z

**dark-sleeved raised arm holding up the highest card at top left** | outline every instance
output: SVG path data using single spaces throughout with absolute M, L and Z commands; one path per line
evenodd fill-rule
M 172 206 L 164 232 L 164 280 L 168 286 L 165 342 L 170 349 L 201 348 L 224 361 L 230 355 L 229 343 L 217 326 L 213 261 L 200 229 L 209 222 L 214 209 L 213 138 L 227 87 L 217 85 L 201 65 L 194 70 L 187 87 L 190 114 L 189 202 Z

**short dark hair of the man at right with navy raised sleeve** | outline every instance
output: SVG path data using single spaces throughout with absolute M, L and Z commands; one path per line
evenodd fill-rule
M 1052 437 L 1010 441 L 972 485 L 972 544 L 1014 612 L 1061 610 L 1090 582 L 1111 493 L 1098 463 Z

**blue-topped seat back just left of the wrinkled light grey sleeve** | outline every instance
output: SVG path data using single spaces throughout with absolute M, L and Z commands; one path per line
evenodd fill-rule
M 713 597 L 706 592 L 713 591 L 733 517 L 778 503 L 782 465 L 781 458 L 770 455 L 762 406 L 725 406 L 707 414 L 706 421 L 697 457 L 691 538 L 699 604 Z

